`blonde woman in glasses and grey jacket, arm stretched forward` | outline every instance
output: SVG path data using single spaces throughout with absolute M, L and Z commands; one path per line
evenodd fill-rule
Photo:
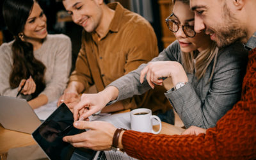
M 207 129 L 239 100 L 246 67 L 246 51 L 235 43 L 219 49 L 204 31 L 195 33 L 189 1 L 173 1 L 166 24 L 177 38 L 157 58 L 120 77 L 95 95 L 83 94 L 74 108 L 74 118 L 86 118 L 106 104 L 140 95 L 155 85 L 172 83 L 164 95 L 186 128 Z M 88 108 L 86 112 L 81 112 Z

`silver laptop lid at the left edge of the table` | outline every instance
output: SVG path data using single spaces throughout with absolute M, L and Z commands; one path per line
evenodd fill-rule
M 5 129 L 31 134 L 42 124 L 25 99 L 0 96 L 0 123 Z

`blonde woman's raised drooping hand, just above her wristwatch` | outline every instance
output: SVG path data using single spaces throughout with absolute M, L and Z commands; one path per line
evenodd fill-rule
M 151 88 L 154 85 L 163 85 L 163 77 L 171 77 L 172 83 L 188 82 L 187 74 L 177 61 L 154 61 L 141 70 L 140 82 L 143 83 L 145 75 Z

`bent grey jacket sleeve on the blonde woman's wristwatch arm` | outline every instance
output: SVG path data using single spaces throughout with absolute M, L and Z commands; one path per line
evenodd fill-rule
M 191 125 L 214 127 L 239 100 L 246 67 L 246 52 L 241 49 L 241 45 L 232 45 L 218 54 L 214 76 L 209 83 L 199 84 L 199 92 L 196 93 L 195 86 L 189 82 L 179 90 L 165 93 L 186 128 Z M 202 78 L 202 81 L 208 79 Z M 207 95 L 202 100 L 200 94 L 203 93 Z

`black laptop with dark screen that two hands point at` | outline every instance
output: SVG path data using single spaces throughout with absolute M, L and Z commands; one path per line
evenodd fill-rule
M 75 148 L 62 138 L 84 132 L 84 130 L 73 127 L 73 123 L 73 114 L 63 103 L 32 133 L 33 138 L 49 159 L 70 159 L 72 157 Z M 81 150 L 76 148 L 76 151 L 86 156 L 83 159 L 93 159 L 97 152 L 84 148 Z

